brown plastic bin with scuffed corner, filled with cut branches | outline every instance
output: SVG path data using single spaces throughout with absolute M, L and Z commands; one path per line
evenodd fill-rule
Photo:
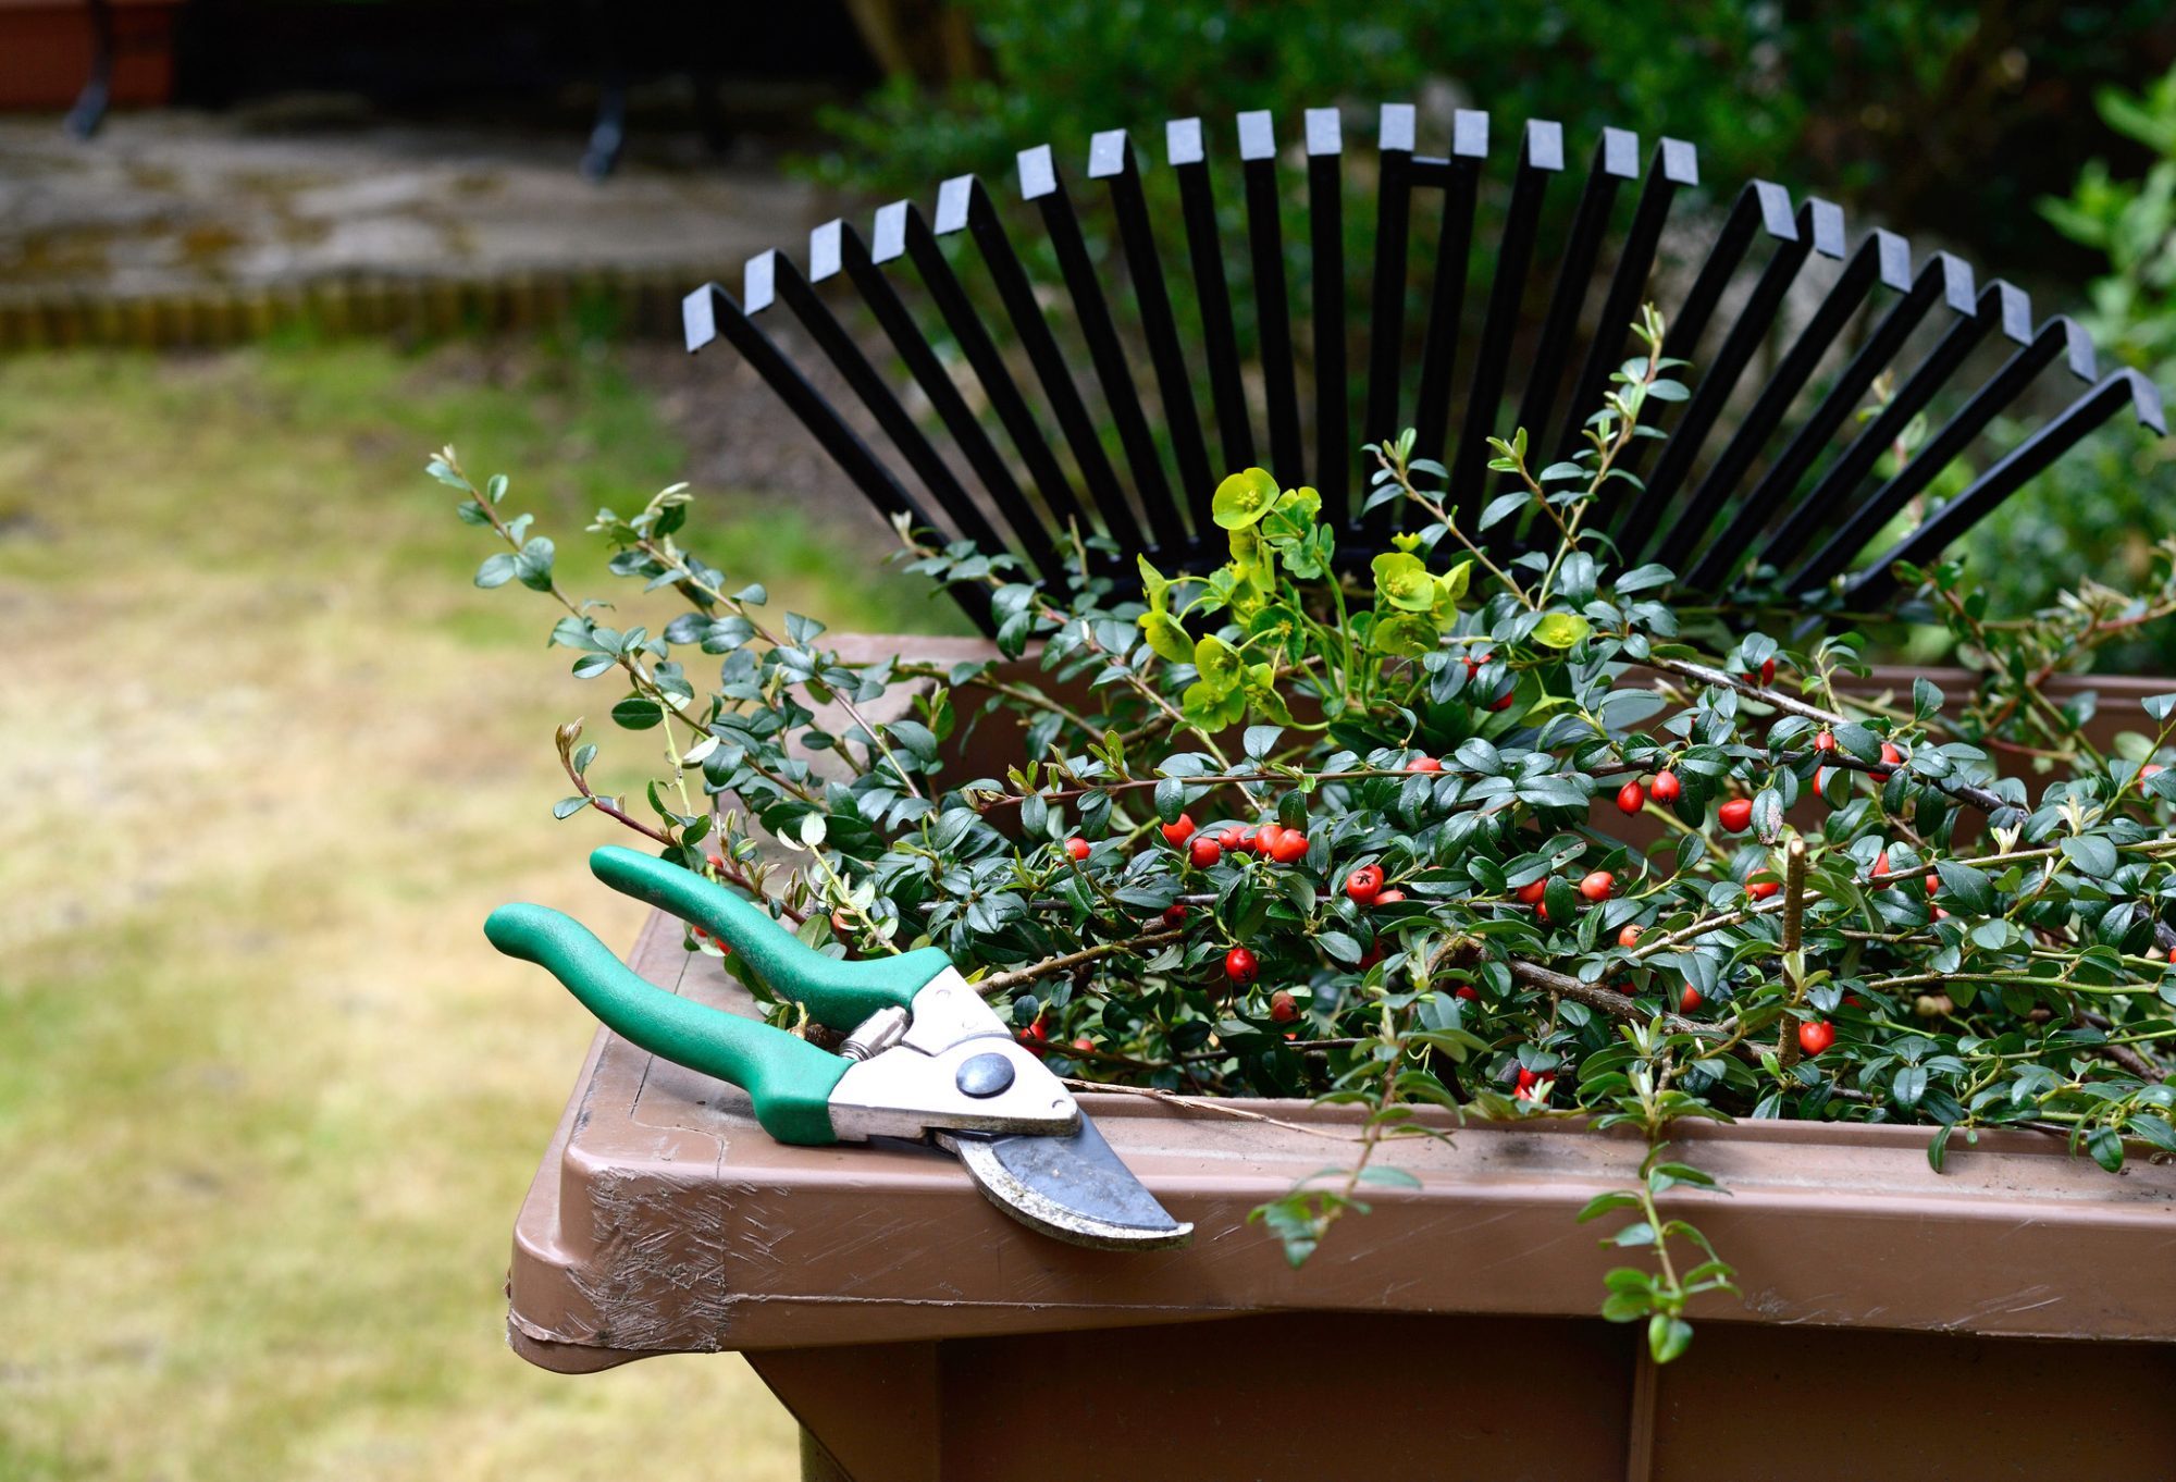
M 2115 729 L 2115 692 L 2163 686 L 2095 688 Z M 631 962 L 751 1010 L 662 916 Z M 1349 1110 L 1081 1106 L 1190 1249 L 1058 1245 L 938 1151 L 783 1147 L 742 1092 L 601 1032 L 516 1225 L 511 1345 L 561 1373 L 738 1349 L 807 1475 L 857 1482 L 2176 1471 L 2176 1166 L 1982 1134 L 1937 1175 L 1924 1127 L 1686 1125 L 1730 1195 L 1682 1206 L 1745 1304 L 1695 1310 L 1656 1369 L 1593 1317 L 1621 1262 L 1573 1223 L 1636 1138 L 1395 1143 L 1421 1186 L 1371 1188 L 1290 1271 L 1247 1212 L 1343 1164 Z

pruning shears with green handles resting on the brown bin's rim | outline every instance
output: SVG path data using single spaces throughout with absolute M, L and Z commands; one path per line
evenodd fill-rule
M 955 1153 L 1001 1210 L 1071 1245 L 1158 1249 L 1192 1238 L 1192 1225 L 1142 1188 L 942 949 L 844 962 L 666 860 L 607 847 L 590 855 L 590 870 L 714 934 L 777 995 L 844 1032 L 840 1053 L 655 988 L 588 927 L 544 905 L 500 905 L 483 934 L 551 971 L 633 1045 L 744 1088 L 779 1143 L 929 1140 Z

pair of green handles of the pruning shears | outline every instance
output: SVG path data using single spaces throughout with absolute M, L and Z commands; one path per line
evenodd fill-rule
M 631 849 L 598 849 L 590 870 L 614 890 L 694 921 L 733 947 L 783 997 L 833 1029 L 853 1029 L 951 966 L 934 949 L 877 962 L 840 962 L 803 944 L 753 903 Z M 546 968 L 622 1038 L 653 1055 L 742 1086 L 755 1121 L 779 1143 L 836 1143 L 829 1097 L 851 1060 L 755 1018 L 725 1014 L 644 981 L 581 923 L 544 905 L 500 905 L 483 923 L 492 947 Z

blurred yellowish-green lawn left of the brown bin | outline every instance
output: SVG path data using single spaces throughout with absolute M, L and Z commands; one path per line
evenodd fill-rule
M 681 477 L 609 350 L 0 361 L 0 1478 L 796 1475 L 738 1358 L 503 1345 L 594 1025 L 479 923 L 640 907 L 548 812 L 553 727 L 611 696 L 468 585 L 448 440 L 577 592 L 588 514 Z M 701 494 L 779 607 L 929 622 L 790 501 Z

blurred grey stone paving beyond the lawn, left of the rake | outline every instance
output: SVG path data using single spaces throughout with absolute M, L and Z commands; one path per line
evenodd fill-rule
M 646 150 L 585 181 L 581 139 L 481 126 L 268 126 L 122 113 L 91 141 L 0 120 L 0 296 L 139 298 L 337 274 L 487 279 L 703 263 L 738 276 L 836 213 L 751 161 Z M 659 159 L 664 155 L 664 159 Z

